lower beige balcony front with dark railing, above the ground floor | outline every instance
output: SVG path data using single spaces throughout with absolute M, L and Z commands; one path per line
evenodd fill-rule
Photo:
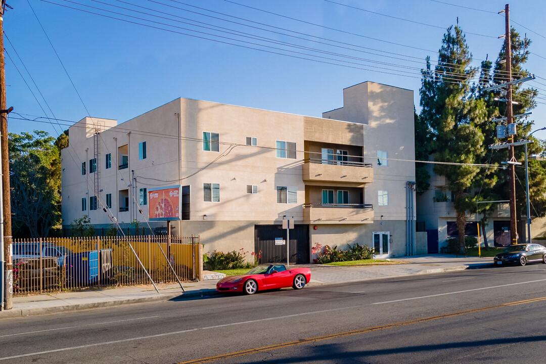
M 371 204 L 307 204 L 304 205 L 306 224 L 371 224 Z

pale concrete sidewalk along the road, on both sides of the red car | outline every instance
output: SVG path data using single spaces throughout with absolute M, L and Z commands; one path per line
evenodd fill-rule
M 364 267 L 336 267 L 330 265 L 307 264 L 311 268 L 310 287 L 324 284 L 341 284 L 347 282 L 370 281 L 373 279 L 403 277 L 464 270 L 491 266 L 492 258 L 476 256 L 456 257 L 454 255 L 430 254 L 402 256 L 392 261 L 405 264 L 376 265 Z M 203 282 L 185 282 L 183 293 L 179 284 L 160 284 L 157 294 L 153 285 L 142 287 L 109 288 L 14 297 L 13 309 L 0 311 L 0 319 L 26 315 L 76 311 L 80 309 L 125 305 L 128 303 L 167 301 L 174 298 L 208 297 L 216 293 L 217 279 Z

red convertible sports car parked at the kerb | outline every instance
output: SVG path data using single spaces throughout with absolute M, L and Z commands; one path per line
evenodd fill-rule
M 216 283 L 218 292 L 244 292 L 253 295 L 256 291 L 293 287 L 302 289 L 311 281 L 309 268 L 287 269 L 283 264 L 265 264 L 252 268 L 246 275 L 230 276 Z

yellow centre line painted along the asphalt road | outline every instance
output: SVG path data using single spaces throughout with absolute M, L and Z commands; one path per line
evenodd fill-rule
M 536 298 L 536 299 L 509 302 L 509 303 L 501 303 L 500 305 L 493 305 L 493 306 L 486 306 L 486 307 L 481 307 L 481 308 L 468 309 L 466 311 L 445 313 L 445 314 L 442 314 L 442 315 L 425 317 L 425 318 L 422 318 L 422 319 L 400 321 L 398 323 L 387 324 L 387 325 L 366 327 L 365 329 L 352 330 L 352 331 L 346 331 L 346 332 L 337 332 L 337 333 L 333 333 L 333 334 L 330 334 L 330 335 L 310 337 L 310 338 L 306 338 L 306 339 L 290 341 L 290 342 L 287 342 L 287 343 L 268 345 L 266 347 L 261 347 L 261 348 L 252 348 L 252 349 L 246 349 L 246 350 L 241 350 L 241 351 L 235 351 L 234 353 L 227 353 L 227 354 L 203 357 L 203 358 L 195 359 L 195 360 L 183 361 L 183 362 L 180 362 L 178 364 L 198 364 L 198 363 L 206 363 L 206 362 L 210 362 L 210 361 L 230 359 L 230 358 L 233 358 L 233 357 L 259 353 L 261 351 L 283 349 L 283 348 L 293 347 L 295 345 L 301 345 L 301 344 L 312 343 L 312 342 L 328 340 L 328 339 L 335 339 L 335 338 L 350 336 L 350 335 L 358 335 L 359 333 L 390 329 L 391 327 L 400 327 L 400 326 L 404 326 L 404 325 L 418 324 L 418 323 L 423 323 L 423 322 L 426 322 L 426 321 L 438 320 L 438 319 L 454 317 L 454 316 L 459 316 L 459 315 L 466 315 L 466 314 L 469 314 L 469 313 L 476 313 L 476 312 L 480 312 L 480 311 L 488 311 L 490 309 L 495 309 L 495 308 L 523 305 L 524 303 L 539 302 L 539 301 L 546 301 L 546 297 L 539 297 L 539 298 Z

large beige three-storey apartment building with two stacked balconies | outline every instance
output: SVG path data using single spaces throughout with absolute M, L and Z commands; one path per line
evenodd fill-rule
M 173 234 L 200 235 L 205 252 L 286 261 L 292 220 L 290 262 L 356 242 L 414 254 L 413 130 L 413 92 L 374 82 L 322 118 L 185 98 L 121 124 L 86 117 L 62 151 L 63 226 L 165 226 L 151 204 L 170 188 Z

